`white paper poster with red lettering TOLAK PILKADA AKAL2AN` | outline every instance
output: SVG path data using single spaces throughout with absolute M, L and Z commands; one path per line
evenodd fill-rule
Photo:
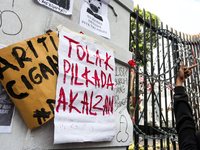
M 115 136 L 113 51 L 59 31 L 54 144 L 112 141 Z

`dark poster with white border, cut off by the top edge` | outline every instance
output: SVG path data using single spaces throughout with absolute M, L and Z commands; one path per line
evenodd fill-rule
M 71 15 L 74 0 L 37 0 L 40 4 L 65 15 Z

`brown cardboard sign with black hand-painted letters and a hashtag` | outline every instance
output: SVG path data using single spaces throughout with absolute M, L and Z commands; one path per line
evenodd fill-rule
M 0 80 L 29 129 L 54 116 L 57 47 L 50 32 L 0 49 Z

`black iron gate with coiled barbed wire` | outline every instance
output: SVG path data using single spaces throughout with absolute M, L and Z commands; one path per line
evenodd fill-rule
M 134 127 L 134 149 L 179 149 L 173 109 L 173 89 L 181 61 L 185 65 L 199 63 L 199 36 L 189 36 L 163 23 L 152 23 L 131 13 L 130 51 L 136 63 L 132 70 L 130 111 Z M 142 25 L 142 26 L 141 26 Z M 141 40 L 142 39 L 142 40 Z M 199 129 L 200 65 L 184 82 Z

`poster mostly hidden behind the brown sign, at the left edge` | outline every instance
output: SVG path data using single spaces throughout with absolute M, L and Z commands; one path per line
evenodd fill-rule
M 6 47 L 0 44 L 0 49 Z M 0 133 L 11 133 L 15 107 L 0 82 Z

